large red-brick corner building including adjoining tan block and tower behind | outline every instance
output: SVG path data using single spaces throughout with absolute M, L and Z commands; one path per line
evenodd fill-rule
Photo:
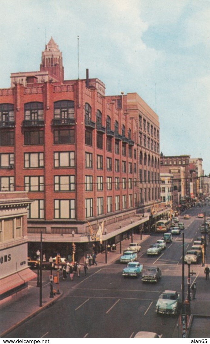
M 0 89 L 1 191 L 27 191 L 28 239 L 88 242 L 160 201 L 159 119 L 136 93 L 105 96 L 97 78 L 64 80 L 53 38 L 38 72 Z

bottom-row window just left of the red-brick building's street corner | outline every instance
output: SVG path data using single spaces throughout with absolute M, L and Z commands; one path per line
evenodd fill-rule
M 55 218 L 74 219 L 75 200 L 54 200 Z

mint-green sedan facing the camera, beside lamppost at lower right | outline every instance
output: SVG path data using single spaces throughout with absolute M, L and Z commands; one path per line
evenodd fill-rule
M 180 295 L 174 290 L 165 290 L 160 295 L 156 303 L 155 312 L 157 314 L 176 315 L 179 310 Z

